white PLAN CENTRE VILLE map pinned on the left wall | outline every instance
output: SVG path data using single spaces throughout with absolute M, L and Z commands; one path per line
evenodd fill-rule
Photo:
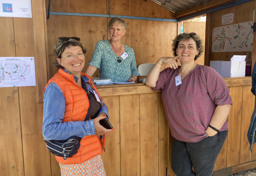
M 36 86 L 34 57 L 0 57 L 0 87 Z

